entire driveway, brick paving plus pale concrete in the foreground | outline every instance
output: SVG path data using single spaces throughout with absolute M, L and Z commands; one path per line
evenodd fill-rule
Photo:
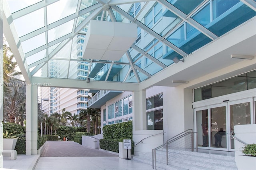
M 151 170 L 152 166 L 125 160 L 73 141 L 48 141 L 35 170 Z

